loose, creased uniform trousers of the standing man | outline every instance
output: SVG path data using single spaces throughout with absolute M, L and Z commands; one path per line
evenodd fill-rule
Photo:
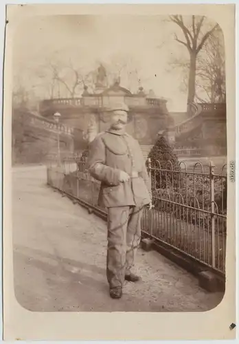
M 110 288 L 123 287 L 124 277 L 135 263 L 141 239 L 143 206 L 108 208 L 106 276 Z

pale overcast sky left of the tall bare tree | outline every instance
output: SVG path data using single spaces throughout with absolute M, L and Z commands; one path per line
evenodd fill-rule
M 112 56 L 130 56 L 139 70 L 142 86 L 168 99 L 170 111 L 185 111 L 187 95 L 180 91 L 180 73 L 169 73 L 172 56 L 187 58 L 177 25 L 166 17 L 54 16 L 34 17 L 19 25 L 14 36 L 14 75 L 27 88 L 36 84 L 34 71 L 47 58 L 72 61 L 89 70 Z M 126 57 L 127 58 L 127 57 Z M 122 80 L 124 85 L 124 78 Z M 36 92 L 40 92 L 36 88 Z

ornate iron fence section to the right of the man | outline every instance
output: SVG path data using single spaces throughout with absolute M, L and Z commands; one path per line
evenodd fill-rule
M 225 272 L 227 173 L 215 166 L 184 162 L 148 164 L 155 208 L 146 210 L 142 228 L 203 264 Z

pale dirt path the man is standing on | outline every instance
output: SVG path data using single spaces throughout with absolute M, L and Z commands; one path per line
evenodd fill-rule
M 157 252 L 139 250 L 142 281 L 109 298 L 105 276 L 106 223 L 46 186 L 43 166 L 17 167 L 13 180 L 16 299 L 34 311 L 203 311 L 223 294 Z

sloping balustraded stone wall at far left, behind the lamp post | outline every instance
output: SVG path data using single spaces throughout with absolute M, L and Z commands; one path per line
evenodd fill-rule
M 12 164 L 46 162 L 58 150 L 58 131 L 62 155 L 74 151 L 72 129 L 25 109 L 14 109 L 12 113 Z

